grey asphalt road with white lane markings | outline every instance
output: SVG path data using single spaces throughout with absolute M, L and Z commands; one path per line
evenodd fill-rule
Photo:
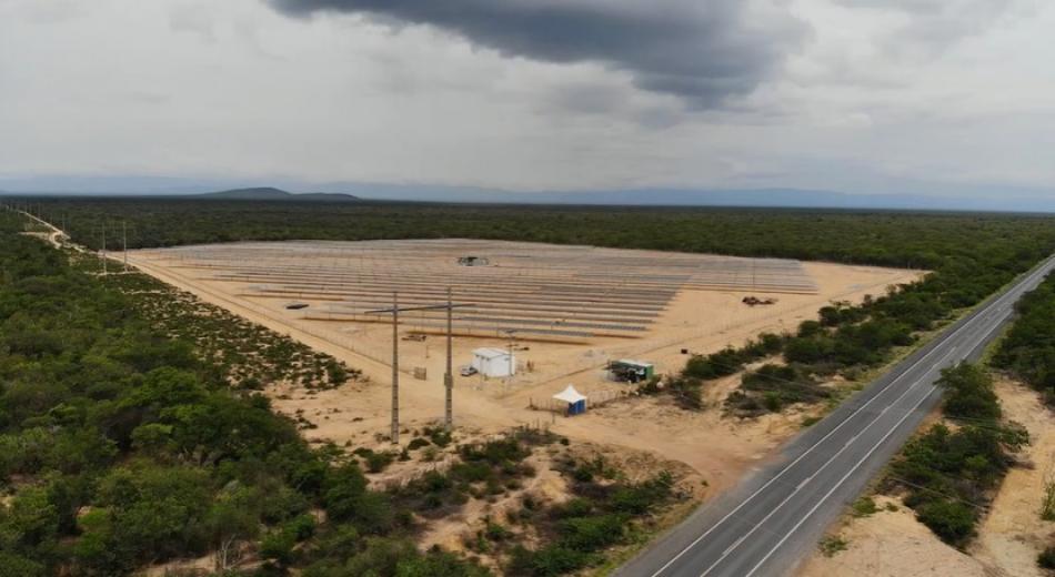
M 1014 303 L 1053 266 L 1055 257 L 946 328 L 616 575 L 762 577 L 794 571 L 934 408 L 941 370 L 977 358 L 1014 313 Z

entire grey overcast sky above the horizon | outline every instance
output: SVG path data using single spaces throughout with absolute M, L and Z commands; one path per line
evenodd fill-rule
M 1049 0 L 0 0 L 0 179 L 1055 196 Z

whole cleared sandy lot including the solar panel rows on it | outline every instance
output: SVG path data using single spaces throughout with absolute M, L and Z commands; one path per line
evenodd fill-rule
M 475 266 L 459 259 L 475 256 Z M 551 423 L 581 441 L 651 451 L 681 460 L 723 486 L 797 429 L 784 415 L 737 423 L 717 408 L 687 414 L 656 399 L 614 403 L 576 418 L 531 411 L 567 384 L 587 396 L 625 385 L 606 378 L 616 358 L 679 371 L 683 350 L 707 353 L 758 333 L 794 330 L 832 301 L 860 302 L 920 273 L 867 266 L 781 260 L 617 251 L 584 246 L 484 241 L 244 243 L 137 251 L 130 262 L 254 322 L 361 368 L 369 377 L 335 391 L 279 386 L 279 409 L 318 428 L 310 436 L 362 443 L 386 429 L 392 328 L 391 306 L 456 304 L 454 363 L 490 346 L 518 350 L 515 377 L 455 377 L 460 426 L 501 431 Z M 745 296 L 774 298 L 748 306 Z M 290 304 L 308 305 L 298 310 Z M 402 418 L 408 427 L 434 422 L 443 409 L 442 311 L 402 316 Z M 529 371 L 530 366 L 530 371 Z M 411 376 L 415 367 L 426 378 Z M 721 388 L 721 387 L 717 387 Z M 703 449 L 702 447 L 706 447 Z

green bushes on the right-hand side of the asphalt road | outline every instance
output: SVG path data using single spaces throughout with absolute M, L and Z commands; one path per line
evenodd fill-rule
M 1018 316 L 996 346 L 991 366 L 961 364 L 942 373 L 944 421 L 914 437 L 891 464 L 887 490 L 904 494 L 906 506 L 945 543 L 965 548 L 992 503 L 1016 453 L 1029 442 L 1025 428 L 1004 417 L 993 370 L 1007 370 L 1032 384 L 1051 404 L 1055 367 L 1052 320 L 1055 277 L 1017 305 Z M 1051 502 L 1048 492 L 1048 502 Z M 1042 504 L 1041 515 L 1047 514 Z M 1055 546 L 1037 560 L 1048 567 Z

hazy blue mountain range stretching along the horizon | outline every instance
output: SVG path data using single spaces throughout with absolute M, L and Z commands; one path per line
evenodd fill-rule
M 265 181 L 272 188 L 258 188 Z M 1055 190 L 1042 188 L 935 185 L 931 192 L 842 193 L 808 189 L 676 189 L 511 191 L 423 183 L 318 182 L 283 176 L 194 179 L 173 176 L 0 176 L 6 195 L 190 196 L 272 201 L 401 201 L 486 204 L 583 204 L 630 206 L 746 206 L 843 210 L 1032 211 L 1055 213 Z M 283 190 L 284 189 L 284 190 Z M 328 193 L 285 192 L 322 190 Z M 222 191 L 213 193 L 212 191 Z M 260 195 L 262 193 L 262 196 Z

